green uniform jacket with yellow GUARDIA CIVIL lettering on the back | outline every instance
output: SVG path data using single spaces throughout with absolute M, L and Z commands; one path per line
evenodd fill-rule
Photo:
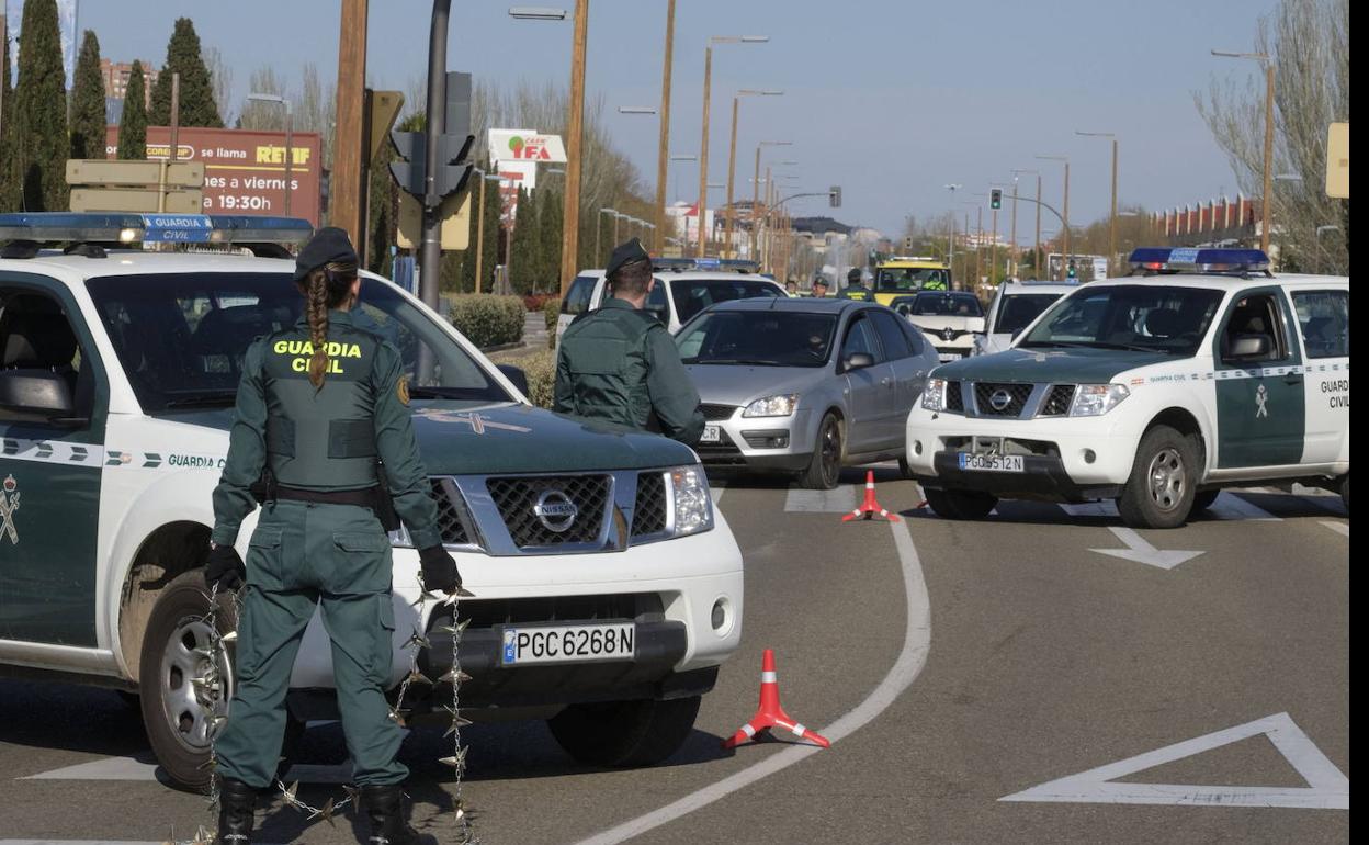
M 441 545 L 398 349 L 352 314 L 330 311 L 329 368 L 319 390 L 309 383 L 312 352 L 304 319 L 248 346 L 229 456 L 214 490 L 211 540 L 237 541 L 256 508 L 251 486 L 267 464 L 285 486 L 357 490 L 375 486 L 379 460 L 413 545 Z

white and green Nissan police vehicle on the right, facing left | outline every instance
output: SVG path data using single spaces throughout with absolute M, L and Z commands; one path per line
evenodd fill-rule
M 1116 499 L 1175 527 L 1223 486 L 1299 481 L 1350 507 L 1350 279 L 1255 249 L 1138 249 L 1012 349 L 938 367 L 908 464 L 941 516 L 999 499 Z

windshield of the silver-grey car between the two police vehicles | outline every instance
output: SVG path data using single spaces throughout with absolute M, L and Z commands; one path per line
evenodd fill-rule
M 686 364 L 821 367 L 836 316 L 804 311 L 712 311 L 675 338 Z

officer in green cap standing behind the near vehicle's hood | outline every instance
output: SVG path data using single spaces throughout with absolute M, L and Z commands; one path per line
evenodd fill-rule
M 656 285 L 652 256 L 632 238 L 613 249 L 606 277 L 613 296 L 561 337 L 554 409 L 693 446 L 704 433 L 698 390 L 665 326 L 643 311 Z

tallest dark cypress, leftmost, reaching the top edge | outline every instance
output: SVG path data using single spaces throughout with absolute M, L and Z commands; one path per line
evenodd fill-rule
M 19 81 L 14 92 L 14 156 L 25 211 L 67 208 L 67 75 L 56 0 L 25 0 Z

